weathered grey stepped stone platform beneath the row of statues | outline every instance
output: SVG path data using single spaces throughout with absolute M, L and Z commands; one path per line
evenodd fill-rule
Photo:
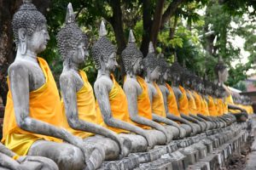
M 153 150 L 133 153 L 120 161 L 105 161 L 100 168 L 111 170 L 215 170 L 225 166 L 233 153 L 241 152 L 247 141 L 247 124 L 214 129 L 195 137 L 155 146 Z

